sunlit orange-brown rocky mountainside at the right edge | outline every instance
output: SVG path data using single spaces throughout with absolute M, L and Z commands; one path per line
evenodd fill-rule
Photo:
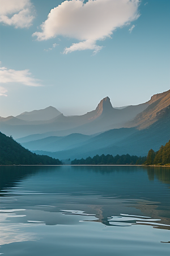
M 137 116 L 126 123 L 125 127 L 137 127 L 139 130 L 145 129 L 162 117 L 162 110 L 170 105 L 170 90 L 167 92 L 155 94 L 151 100 L 146 102 L 149 106 Z

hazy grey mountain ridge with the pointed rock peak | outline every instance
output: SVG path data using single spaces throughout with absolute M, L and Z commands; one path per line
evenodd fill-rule
M 17 122 L 13 122 L 11 119 L 10 122 L 2 122 L 0 119 L 0 127 L 3 133 L 12 135 L 15 139 L 43 133 L 48 133 L 48 136 L 54 135 L 54 133 L 56 136 L 66 136 L 73 133 L 91 135 L 109 129 L 124 127 L 125 122 L 133 119 L 138 113 L 145 110 L 147 106 L 148 104 L 145 103 L 137 106 L 128 106 L 123 109 L 114 109 L 109 97 L 105 97 L 100 101 L 95 110 L 84 115 L 66 117 L 63 114 L 59 114 L 57 117 L 46 121 L 40 121 L 42 119 L 40 117 L 36 118 L 38 119 L 36 121 L 31 121 L 33 118 L 26 121 L 25 114 L 21 114 L 16 118 L 19 119 L 24 116 L 25 120 L 22 121 L 25 121 L 25 123 L 18 121 L 17 124 Z

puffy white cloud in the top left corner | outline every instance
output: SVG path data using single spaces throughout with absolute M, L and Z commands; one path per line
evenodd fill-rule
M 35 9 L 30 0 L 0 0 L 0 22 L 15 28 L 30 27 Z

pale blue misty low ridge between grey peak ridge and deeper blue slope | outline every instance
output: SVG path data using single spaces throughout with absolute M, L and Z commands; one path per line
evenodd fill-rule
M 101 133 L 92 137 L 92 135 L 83 134 L 70 134 L 65 137 L 48 137 L 39 139 L 37 141 L 22 143 L 22 146 L 28 148 L 31 151 L 44 150 L 44 151 L 61 151 L 69 150 L 75 147 L 89 148 L 104 147 L 112 145 L 114 142 L 118 142 L 123 138 L 135 133 L 135 129 L 114 129 L 105 133 Z

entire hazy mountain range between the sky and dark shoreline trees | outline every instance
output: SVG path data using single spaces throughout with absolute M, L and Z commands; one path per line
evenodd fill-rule
M 170 138 L 170 90 L 143 104 L 113 108 L 109 97 L 84 115 L 65 116 L 52 106 L 0 118 L 0 129 L 23 147 L 59 159 L 96 154 L 146 155 Z

